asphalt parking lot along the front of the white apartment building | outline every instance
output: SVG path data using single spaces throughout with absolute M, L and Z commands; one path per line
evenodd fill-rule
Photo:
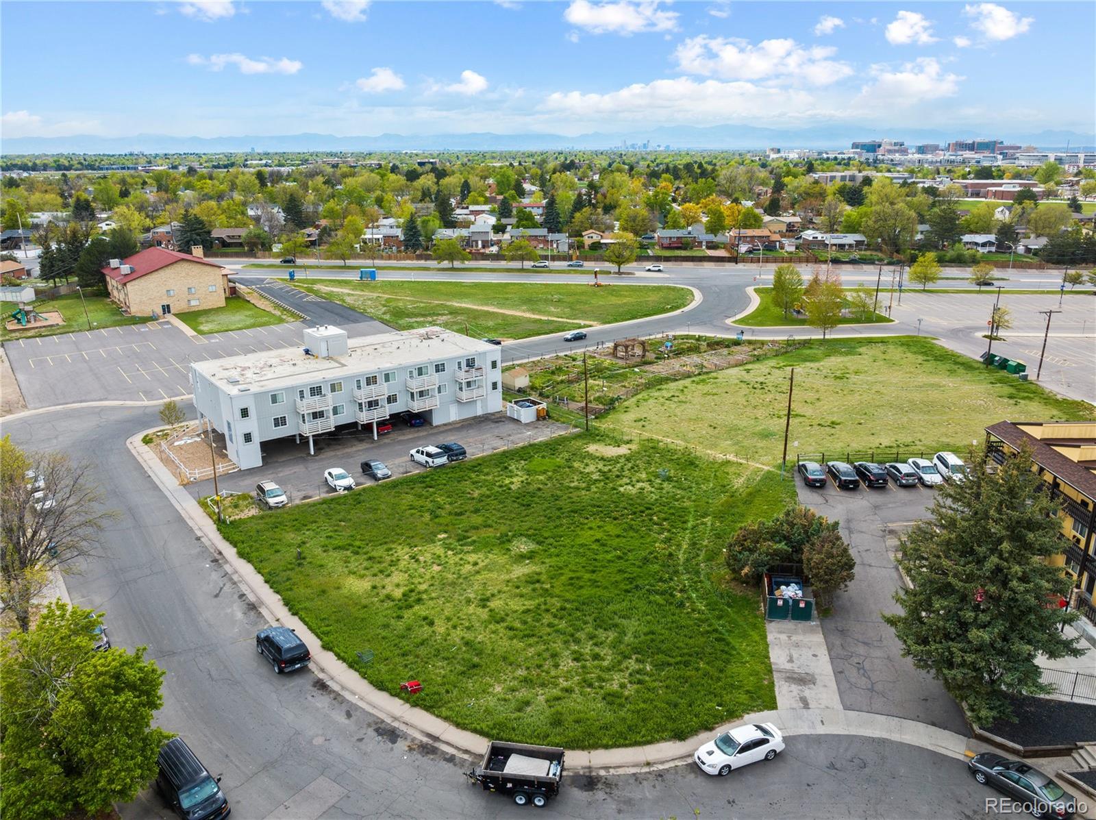
M 332 467 L 351 474 L 361 490 L 376 483 L 362 475 L 361 464 L 366 458 L 384 462 L 392 471 L 392 478 L 386 480 L 391 481 L 426 469 L 410 459 L 408 454 L 413 447 L 457 442 L 468 451 L 468 457 L 473 458 L 572 430 L 570 425 L 550 420 L 522 424 L 505 413 L 480 415 L 439 426 L 409 428 L 399 418 L 391 421 L 392 431 L 380 434 L 377 441 L 373 440 L 369 429 L 317 437 L 313 442 L 316 455 L 308 454 L 308 441 L 305 439 L 299 444 L 292 437 L 266 442 L 263 445 L 262 467 L 221 476 L 218 487 L 221 492 L 252 493 L 260 481 L 275 481 L 294 503 L 338 494 L 323 481 L 323 471 Z M 434 469 L 460 469 L 460 466 L 457 463 Z M 194 498 L 212 496 L 213 479 L 187 485 L 186 490 Z

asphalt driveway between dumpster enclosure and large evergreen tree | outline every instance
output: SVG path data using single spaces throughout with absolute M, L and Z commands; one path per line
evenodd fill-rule
M 927 517 L 935 490 L 895 487 L 893 481 L 886 488 L 840 490 L 832 479 L 814 488 L 798 474 L 796 489 L 804 506 L 841 522 L 856 559 L 855 579 L 836 594 L 833 613 L 822 618 L 842 706 L 966 733 L 959 706 L 938 681 L 902 657 L 894 631 L 880 617 L 900 612 L 893 595 L 902 578 L 893 555 L 902 533 Z

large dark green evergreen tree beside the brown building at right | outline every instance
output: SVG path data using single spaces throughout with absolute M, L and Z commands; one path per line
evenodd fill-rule
M 902 653 L 981 726 L 1012 718 L 1011 696 L 1049 691 L 1040 652 L 1080 654 L 1059 631 L 1077 615 L 1055 604 L 1070 581 L 1050 560 L 1062 524 L 1047 485 L 1027 449 L 989 466 L 977 451 L 963 481 L 937 488 L 932 516 L 902 539 L 898 562 L 912 583 L 894 595 L 902 613 L 883 615 Z

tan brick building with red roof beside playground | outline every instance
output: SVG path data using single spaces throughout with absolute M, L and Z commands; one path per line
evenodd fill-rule
M 146 248 L 102 269 L 106 291 L 133 316 L 182 314 L 225 307 L 228 270 L 198 255 Z

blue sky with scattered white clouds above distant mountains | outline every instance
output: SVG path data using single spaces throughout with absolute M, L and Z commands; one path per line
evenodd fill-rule
M 0 135 L 1091 133 L 1094 27 L 1091 2 L 5 1 Z

